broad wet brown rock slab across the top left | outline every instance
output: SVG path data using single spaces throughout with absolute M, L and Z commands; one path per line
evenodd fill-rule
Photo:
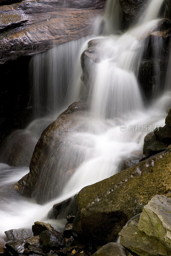
M 0 7 L 0 63 L 90 35 L 104 0 L 24 1 Z

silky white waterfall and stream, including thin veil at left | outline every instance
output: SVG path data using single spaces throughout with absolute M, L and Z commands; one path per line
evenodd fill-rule
M 171 102 L 168 86 L 170 76 L 166 78 L 166 89 L 162 93 L 159 93 L 158 87 L 154 90 L 154 98 L 148 106 L 145 106 L 137 79 L 140 60 L 146 51 L 145 38 L 157 27 L 163 2 L 149 1 L 137 24 L 121 33 L 122 14 L 118 0 L 107 1 L 103 17 L 103 34 L 106 36 L 98 37 L 101 39 L 101 60 L 91 72 L 92 93 L 88 96 L 91 107 L 84 117 L 80 117 L 87 124 L 87 129 L 68 138 L 68 151 L 56 159 L 55 165 L 55 168 L 61 168 L 64 163 L 72 166 L 77 156 L 78 167 L 67 182 L 61 180 L 62 187 L 57 198 L 54 196 L 57 195 L 56 182 L 53 182 L 56 180 L 56 169 L 53 173 L 44 173 L 47 185 L 41 192 L 48 198 L 51 184 L 50 190 L 53 190 L 55 199 L 39 205 L 33 199 L 25 198 L 13 190 L 15 182 L 28 173 L 29 168 L 0 164 L 0 235 L 3 236 L 4 231 L 8 229 L 31 227 L 37 220 L 48 221 L 56 229 L 62 230 L 64 220 L 47 220 L 47 214 L 53 204 L 74 196 L 87 185 L 119 172 L 124 159 L 142 155 L 145 135 L 155 127 L 164 125 Z M 101 22 L 101 18 L 98 22 Z M 95 33 L 99 34 L 97 31 L 100 25 L 96 25 Z M 30 132 L 34 145 L 44 128 L 69 104 L 79 100 L 84 94 L 84 85 L 80 80 L 80 55 L 87 48 L 89 40 L 90 38 L 82 38 L 32 58 L 30 68 L 34 84 L 32 100 L 35 119 L 24 132 Z M 169 60 L 168 65 L 170 63 Z M 43 104 L 52 110 L 53 115 L 48 116 L 46 108 L 47 117 L 39 116 Z M 17 138 L 19 137 L 20 135 Z M 14 140 L 17 141 L 15 136 Z M 9 142 L 3 150 L 8 147 Z M 2 162 L 7 155 L 7 151 L 4 152 L 4 155 L 1 152 Z M 41 182 L 41 178 L 38 182 Z M 35 188 L 34 194 L 36 193 L 39 191 Z

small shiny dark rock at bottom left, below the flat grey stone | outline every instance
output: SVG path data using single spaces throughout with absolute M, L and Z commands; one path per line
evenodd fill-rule
M 26 240 L 21 239 L 11 241 L 6 243 L 5 246 L 12 255 L 22 255 L 24 250 L 26 249 Z

